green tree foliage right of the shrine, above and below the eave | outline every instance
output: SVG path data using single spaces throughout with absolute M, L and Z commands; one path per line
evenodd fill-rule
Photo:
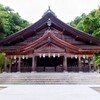
M 100 7 L 92 10 L 88 15 L 82 14 L 69 23 L 71 26 L 84 31 L 96 38 L 100 38 Z M 100 64 L 100 54 L 96 56 L 96 63 Z

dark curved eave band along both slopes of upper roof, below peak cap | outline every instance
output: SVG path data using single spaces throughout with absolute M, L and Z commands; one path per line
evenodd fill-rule
M 48 18 L 50 18 L 50 20 L 55 24 L 58 25 L 60 27 L 60 30 L 66 30 L 68 32 L 70 32 L 70 34 L 73 34 L 74 36 L 78 36 L 81 39 L 84 39 L 86 41 L 92 41 L 92 43 L 95 43 L 97 45 L 100 45 L 100 39 L 95 38 L 85 32 L 79 31 L 67 24 L 65 24 L 64 22 L 62 22 L 61 20 L 59 20 L 57 17 L 55 17 L 52 13 L 48 12 L 45 16 L 43 16 L 39 21 L 37 21 L 36 23 L 32 24 L 29 27 L 26 27 L 25 29 L 12 34 L 4 39 L 2 39 L 0 41 L 0 45 L 5 44 L 6 42 L 13 42 L 13 41 L 18 41 L 19 38 L 21 38 L 21 36 L 24 37 L 24 35 L 26 34 L 31 34 L 33 31 L 38 30 L 40 27 L 42 27 L 42 25 L 44 25 L 47 21 Z M 59 28 L 58 27 L 58 28 Z

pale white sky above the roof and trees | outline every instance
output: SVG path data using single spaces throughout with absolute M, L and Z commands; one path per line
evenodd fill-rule
M 100 6 L 100 0 L 0 0 L 27 21 L 38 21 L 50 6 L 57 18 L 65 23 L 74 20 L 82 13 L 88 14 Z

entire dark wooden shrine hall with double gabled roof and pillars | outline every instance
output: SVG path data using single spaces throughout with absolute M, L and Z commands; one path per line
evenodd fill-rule
M 96 69 L 100 39 L 65 24 L 49 8 L 36 23 L 2 39 L 0 52 L 7 72 L 89 72 Z

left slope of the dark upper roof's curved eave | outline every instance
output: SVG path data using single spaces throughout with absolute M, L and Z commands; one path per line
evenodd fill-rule
M 49 15 L 46 15 L 43 18 L 41 18 L 40 20 L 38 20 L 36 23 L 24 28 L 23 30 L 21 30 L 19 32 L 16 32 L 16 33 L 2 39 L 0 41 L 0 45 L 3 45 L 5 42 L 17 41 L 19 38 L 21 38 L 21 36 L 24 36 L 26 34 L 30 34 L 34 31 L 36 31 L 38 28 L 40 28 L 42 25 L 44 25 L 47 22 L 48 16 Z

